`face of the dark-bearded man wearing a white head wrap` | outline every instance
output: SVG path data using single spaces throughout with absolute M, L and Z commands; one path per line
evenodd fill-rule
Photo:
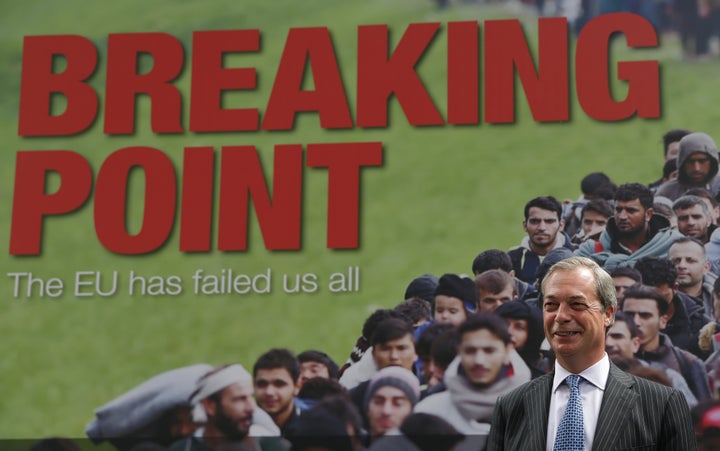
M 211 422 L 229 440 L 242 440 L 250 431 L 255 411 L 252 382 L 237 382 L 220 392 L 220 401 L 204 399 Z

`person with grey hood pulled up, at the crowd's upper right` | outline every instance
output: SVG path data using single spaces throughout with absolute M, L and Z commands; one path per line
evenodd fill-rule
M 715 141 L 706 133 L 696 132 L 680 140 L 677 156 L 678 177 L 661 186 L 658 196 L 675 201 L 692 188 L 705 188 L 717 194 L 718 150 Z

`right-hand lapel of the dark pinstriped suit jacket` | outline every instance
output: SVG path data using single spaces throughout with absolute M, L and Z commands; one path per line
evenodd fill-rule
M 620 436 L 617 430 L 627 424 L 631 406 L 639 400 L 639 394 L 633 387 L 633 379 L 611 362 L 593 438 L 593 450 L 614 449 L 615 440 Z

